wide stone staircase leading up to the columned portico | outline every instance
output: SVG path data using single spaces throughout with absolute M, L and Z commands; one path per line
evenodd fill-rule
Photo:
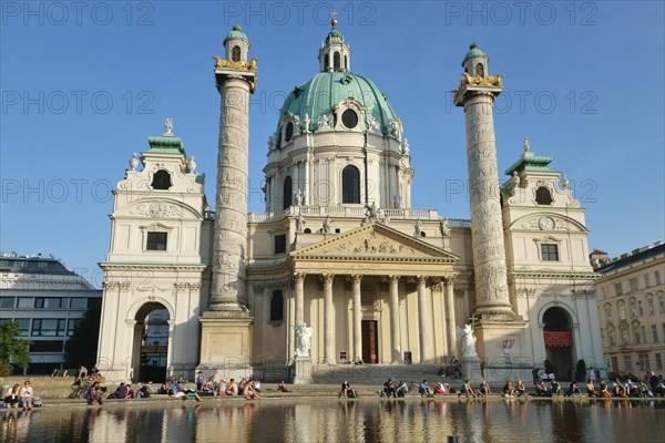
M 427 379 L 433 385 L 442 380 L 440 369 L 440 364 L 313 364 L 311 379 L 314 384 L 340 384 L 342 380 L 348 380 L 351 385 L 374 385 L 377 389 L 388 379 L 392 379 L 396 384 L 400 380 L 411 384 Z M 444 381 L 454 388 L 460 382 L 454 379 Z

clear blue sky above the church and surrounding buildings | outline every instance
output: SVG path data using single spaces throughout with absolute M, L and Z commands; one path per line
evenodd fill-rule
M 616 256 L 665 237 L 665 12 L 661 1 L 11 2 L 0 28 L 0 249 L 52 254 L 100 285 L 111 190 L 166 117 L 214 202 L 214 54 L 252 41 L 249 210 L 278 110 L 318 70 L 338 11 L 352 71 L 388 94 L 416 171 L 415 208 L 469 218 L 464 122 L 449 91 L 471 42 L 504 74 L 499 168 L 551 155 L 586 208 L 590 247 Z

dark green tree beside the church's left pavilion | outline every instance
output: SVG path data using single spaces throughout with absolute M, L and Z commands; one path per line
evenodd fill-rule
M 91 368 L 96 361 L 102 305 L 93 300 L 90 302 L 92 305 L 88 307 L 64 347 L 64 364 L 70 369 L 79 368 L 81 364 Z

